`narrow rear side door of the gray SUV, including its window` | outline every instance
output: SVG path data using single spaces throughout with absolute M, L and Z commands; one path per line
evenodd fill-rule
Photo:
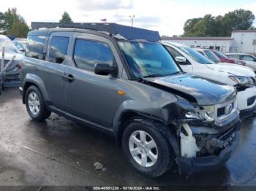
M 43 75 L 45 87 L 50 97 L 50 105 L 67 109 L 64 93 L 64 73 L 67 63 L 67 50 L 72 33 L 50 34 L 45 65 L 48 71 Z

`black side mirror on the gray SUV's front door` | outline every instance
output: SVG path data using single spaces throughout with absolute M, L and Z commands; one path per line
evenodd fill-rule
M 95 63 L 94 73 L 102 76 L 111 74 L 113 77 L 117 77 L 118 68 L 116 66 L 109 66 L 108 63 Z

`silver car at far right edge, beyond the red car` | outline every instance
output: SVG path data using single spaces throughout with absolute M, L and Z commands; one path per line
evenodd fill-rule
M 228 58 L 237 59 L 239 61 L 243 61 L 245 66 L 252 68 L 256 71 L 256 57 L 254 55 L 246 54 L 246 53 L 227 53 L 225 54 Z

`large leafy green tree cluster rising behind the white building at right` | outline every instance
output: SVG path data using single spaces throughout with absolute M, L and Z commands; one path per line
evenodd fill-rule
M 228 12 L 224 17 L 205 15 L 188 19 L 183 36 L 230 36 L 233 30 L 251 28 L 254 20 L 255 15 L 244 9 Z

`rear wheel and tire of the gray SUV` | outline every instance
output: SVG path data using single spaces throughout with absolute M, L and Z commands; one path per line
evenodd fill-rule
M 25 95 L 26 110 L 35 121 L 44 121 L 50 117 L 50 111 L 46 108 L 42 94 L 39 89 L 31 85 Z

